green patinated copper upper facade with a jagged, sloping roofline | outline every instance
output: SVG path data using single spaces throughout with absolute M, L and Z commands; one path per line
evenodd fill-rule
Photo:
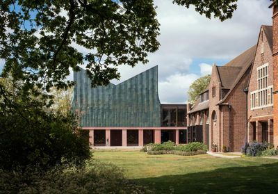
M 81 127 L 160 127 L 158 67 L 114 85 L 91 88 L 85 70 L 74 72 L 72 107 L 81 112 Z

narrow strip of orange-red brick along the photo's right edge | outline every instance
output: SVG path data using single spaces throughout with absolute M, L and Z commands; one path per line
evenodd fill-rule
M 273 9 L 273 135 L 275 147 L 278 146 L 278 0 L 273 0 L 270 8 Z

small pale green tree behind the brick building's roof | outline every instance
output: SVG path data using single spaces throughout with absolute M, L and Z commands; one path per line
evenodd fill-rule
M 194 104 L 198 99 L 199 94 L 204 92 L 206 87 L 208 87 L 209 82 L 211 81 L 211 75 L 202 76 L 199 79 L 191 83 L 188 89 L 189 102 Z

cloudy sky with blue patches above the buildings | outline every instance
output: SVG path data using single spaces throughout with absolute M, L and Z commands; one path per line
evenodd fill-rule
M 272 25 L 269 0 L 239 0 L 232 19 L 220 22 L 199 15 L 194 8 L 172 4 L 172 0 L 154 0 L 160 22 L 161 47 L 149 54 L 149 63 L 118 68 L 126 79 L 158 65 L 158 95 L 161 103 L 185 103 L 191 83 L 211 74 L 213 63 L 224 65 L 256 45 L 261 25 Z M 76 48 L 80 51 L 85 49 Z M 3 60 L 0 60 L 0 72 Z M 72 78 L 72 74 L 69 76 Z

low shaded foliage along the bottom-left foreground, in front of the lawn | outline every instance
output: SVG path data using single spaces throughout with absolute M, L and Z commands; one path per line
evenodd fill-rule
M 111 163 L 88 161 L 84 167 L 57 166 L 46 172 L 35 168 L 0 170 L 0 193 L 153 193 L 124 178 Z

